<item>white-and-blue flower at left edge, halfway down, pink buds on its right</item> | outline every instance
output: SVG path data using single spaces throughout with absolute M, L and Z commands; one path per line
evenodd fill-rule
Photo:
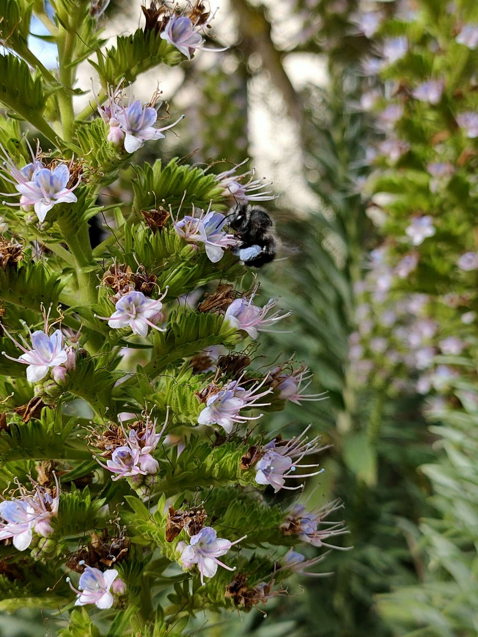
M 22 362 L 27 365 L 27 380 L 31 383 L 38 383 L 42 378 L 45 378 L 50 368 L 55 368 L 66 362 L 68 354 L 64 350 L 63 335 L 59 329 L 55 330 L 51 336 L 48 336 L 47 333 L 40 329 L 33 333 L 31 333 L 29 328 L 27 329 L 30 334 L 31 347 L 21 334 L 20 340 L 22 343 L 19 343 L 3 326 L 4 333 L 24 354 L 17 359 L 5 352 L 2 352 L 2 354 L 10 361 Z M 45 326 L 46 329 L 47 327 Z

